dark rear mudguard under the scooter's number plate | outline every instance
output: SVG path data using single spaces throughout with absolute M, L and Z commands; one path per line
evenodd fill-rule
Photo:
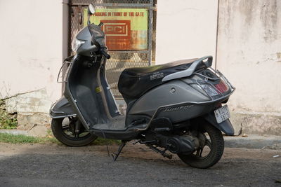
M 230 120 L 224 120 L 221 123 L 216 122 L 216 117 L 214 113 L 208 113 L 206 116 L 204 116 L 205 120 L 207 120 L 211 125 L 214 125 L 218 130 L 221 130 L 226 135 L 233 136 L 234 135 L 234 129 L 233 125 L 231 124 Z

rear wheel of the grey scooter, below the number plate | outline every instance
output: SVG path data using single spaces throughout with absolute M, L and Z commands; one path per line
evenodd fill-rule
M 204 137 L 204 144 L 189 155 L 178 154 L 178 157 L 191 167 L 209 168 L 218 162 L 223 155 L 224 140 L 220 130 L 211 124 L 201 126 L 198 134 Z

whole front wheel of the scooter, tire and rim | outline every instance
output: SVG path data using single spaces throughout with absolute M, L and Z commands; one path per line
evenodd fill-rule
M 53 119 L 51 130 L 55 138 L 67 146 L 86 146 L 97 139 L 74 117 Z

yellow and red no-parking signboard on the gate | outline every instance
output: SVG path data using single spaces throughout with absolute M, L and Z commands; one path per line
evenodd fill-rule
M 84 26 L 87 20 L 85 8 Z M 103 22 L 109 50 L 148 50 L 148 9 L 100 8 L 90 16 L 90 21 L 96 25 Z

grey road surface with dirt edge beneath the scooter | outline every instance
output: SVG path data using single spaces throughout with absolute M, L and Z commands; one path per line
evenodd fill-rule
M 112 162 L 105 146 L 0 143 L 0 186 L 281 186 L 277 181 L 280 150 L 226 148 L 217 165 L 195 169 L 145 146 L 126 146 Z

